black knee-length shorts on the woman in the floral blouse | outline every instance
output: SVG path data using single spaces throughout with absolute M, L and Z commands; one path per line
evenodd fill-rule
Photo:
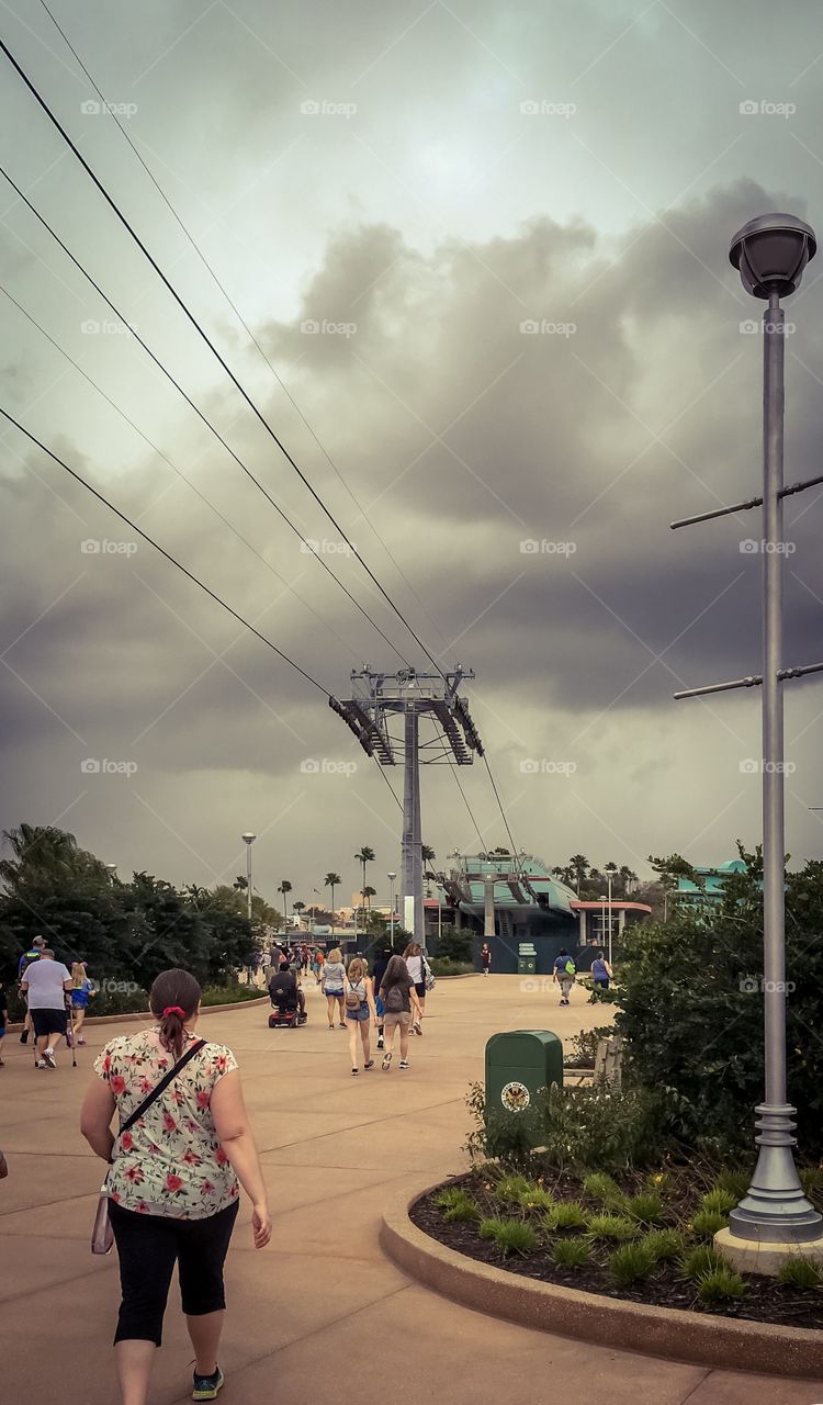
M 140 1215 L 108 1201 L 122 1291 L 115 1343 L 139 1340 L 160 1346 L 176 1263 L 187 1316 L 226 1307 L 223 1263 L 239 1208 L 235 1201 L 206 1220 L 173 1220 Z

